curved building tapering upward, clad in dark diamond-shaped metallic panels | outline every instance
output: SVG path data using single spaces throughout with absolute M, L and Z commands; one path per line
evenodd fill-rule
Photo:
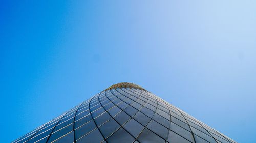
M 14 142 L 235 141 L 138 85 L 118 83 Z

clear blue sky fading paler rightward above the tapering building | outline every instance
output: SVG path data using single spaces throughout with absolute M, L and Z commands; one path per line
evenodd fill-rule
M 1 142 L 133 82 L 256 142 L 256 1 L 1 1 Z

